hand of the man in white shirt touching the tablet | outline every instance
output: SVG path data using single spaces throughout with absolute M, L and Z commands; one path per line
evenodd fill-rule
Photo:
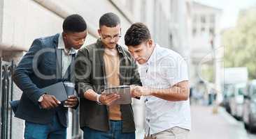
M 150 88 L 145 88 L 142 86 L 131 87 L 131 97 L 141 97 L 151 95 Z

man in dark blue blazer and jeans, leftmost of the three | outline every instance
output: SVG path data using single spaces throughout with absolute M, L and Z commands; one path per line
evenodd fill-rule
M 87 36 L 87 25 L 80 15 L 70 15 L 63 22 L 63 32 L 34 40 L 13 74 L 22 90 L 15 117 L 25 120 L 25 139 L 66 138 L 68 108 L 77 108 L 78 99 L 69 96 L 64 106 L 42 88 L 73 81 L 76 49 Z

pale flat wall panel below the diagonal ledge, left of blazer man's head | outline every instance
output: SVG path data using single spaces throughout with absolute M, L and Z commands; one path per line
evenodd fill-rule
M 35 1 L 4 0 L 1 47 L 27 50 L 35 38 L 62 31 L 62 17 Z

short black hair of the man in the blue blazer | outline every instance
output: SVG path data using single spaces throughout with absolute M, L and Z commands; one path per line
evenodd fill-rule
M 81 17 L 80 15 L 74 14 L 69 15 L 64 19 L 64 22 L 62 24 L 62 28 L 64 32 L 83 32 L 87 29 L 87 24 L 85 22 L 85 19 Z

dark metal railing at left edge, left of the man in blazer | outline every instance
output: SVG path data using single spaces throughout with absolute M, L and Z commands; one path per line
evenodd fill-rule
M 1 139 L 12 138 L 12 111 L 9 101 L 13 100 L 13 80 L 11 75 L 14 69 L 13 62 L 5 62 L 0 57 L 0 113 Z

